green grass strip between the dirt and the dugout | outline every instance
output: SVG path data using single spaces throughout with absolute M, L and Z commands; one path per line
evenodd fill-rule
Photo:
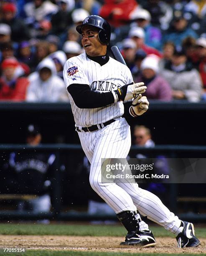
M 160 226 L 150 226 L 155 237 L 174 237 Z M 57 236 L 125 236 L 121 225 L 74 225 L 74 224 L 0 224 L 1 235 L 57 235 Z M 196 228 L 196 236 L 206 238 L 206 228 Z

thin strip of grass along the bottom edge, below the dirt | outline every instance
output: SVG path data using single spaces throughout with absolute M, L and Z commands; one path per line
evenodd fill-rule
M 154 256 L 154 253 L 113 253 L 113 252 L 87 252 L 87 251 L 45 251 L 45 250 L 35 250 L 30 251 L 27 250 L 25 253 L 3 253 L 0 255 L 18 255 L 18 256 Z M 169 256 L 182 256 L 182 253 L 172 253 L 168 254 Z M 192 254 L 188 253 L 186 256 L 194 256 L 194 255 L 204 255 L 204 253 L 200 254 Z M 155 253 L 155 256 L 165 256 L 165 253 Z

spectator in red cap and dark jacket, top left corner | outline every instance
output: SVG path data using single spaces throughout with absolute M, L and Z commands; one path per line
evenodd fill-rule
M 20 42 L 31 38 L 30 32 L 20 18 L 16 17 L 17 8 L 14 3 L 5 3 L 2 6 L 1 23 L 8 24 L 11 28 L 11 40 Z

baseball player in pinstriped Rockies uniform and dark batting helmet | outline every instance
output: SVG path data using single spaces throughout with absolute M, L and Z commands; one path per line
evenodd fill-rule
M 76 27 L 85 53 L 64 65 L 64 81 L 69 93 L 76 131 L 91 163 L 89 182 L 97 194 L 117 214 L 128 233 L 122 245 L 155 246 L 155 238 L 137 210 L 176 235 L 179 247 L 196 247 L 192 223 L 179 220 L 154 194 L 137 183 L 102 183 L 101 159 L 126 158 L 131 146 L 130 126 L 123 102 L 131 100 L 130 114 L 142 115 L 149 102 L 142 93 L 144 83 L 134 83 L 128 67 L 109 57 L 111 28 L 97 15 L 90 15 Z

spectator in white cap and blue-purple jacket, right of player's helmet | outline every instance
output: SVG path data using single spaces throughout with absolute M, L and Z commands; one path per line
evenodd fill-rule
M 136 11 L 132 13 L 131 19 L 136 21 L 137 26 L 144 29 L 145 44 L 160 51 L 162 48 L 162 33 L 159 28 L 151 25 L 151 15 L 148 10 L 136 8 Z

